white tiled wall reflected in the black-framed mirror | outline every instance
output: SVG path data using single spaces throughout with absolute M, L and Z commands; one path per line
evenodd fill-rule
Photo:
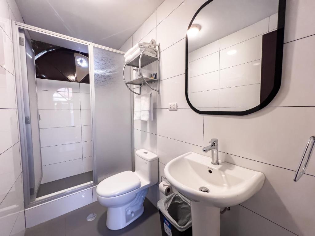
M 188 97 L 198 110 L 243 111 L 260 104 L 262 35 L 278 13 L 188 54 Z

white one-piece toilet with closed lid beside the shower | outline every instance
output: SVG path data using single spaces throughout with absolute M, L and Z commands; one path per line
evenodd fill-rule
M 124 228 L 141 216 L 148 187 L 157 182 L 157 155 L 145 149 L 136 151 L 135 172 L 124 171 L 100 182 L 96 194 L 107 207 L 107 228 Z

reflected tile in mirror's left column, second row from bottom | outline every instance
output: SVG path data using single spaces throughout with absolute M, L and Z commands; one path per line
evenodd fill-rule
M 190 93 L 218 89 L 219 88 L 219 71 L 217 70 L 217 71 L 203 74 L 200 76 L 191 77 L 189 84 L 190 84 Z

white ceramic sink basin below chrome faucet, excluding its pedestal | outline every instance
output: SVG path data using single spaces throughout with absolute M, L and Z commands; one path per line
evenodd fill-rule
M 169 183 L 192 201 L 215 207 L 238 205 L 257 193 L 265 180 L 263 173 L 188 152 L 171 160 L 164 169 Z M 202 188 L 202 189 L 201 189 Z M 209 192 L 203 192 L 203 191 Z

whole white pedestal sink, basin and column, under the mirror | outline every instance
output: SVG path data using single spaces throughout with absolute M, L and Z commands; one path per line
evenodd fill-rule
M 257 193 L 265 175 L 240 166 L 188 152 L 164 169 L 169 183 L 191 200 L 193 236 L 220 236 L 220 208 L 234 206 Z M 203 191 L 208 192 L 203 192 Z

